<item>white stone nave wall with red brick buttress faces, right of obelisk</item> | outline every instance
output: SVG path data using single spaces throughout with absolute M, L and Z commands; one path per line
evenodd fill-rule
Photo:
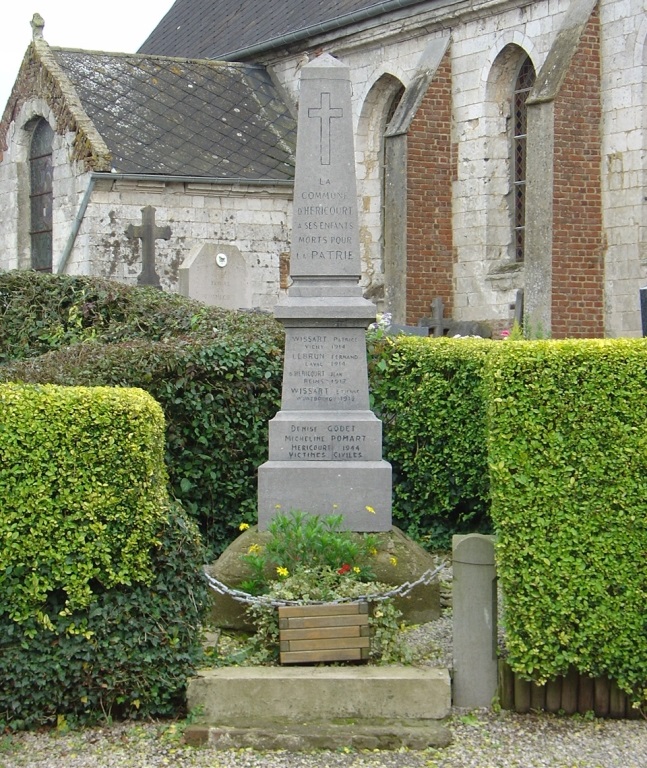
M 351 67 L 364 286 L 371 295 L 384 280 L 385 214 L 383 145 L 376 135 L 383 128 L 368 115 L 392 93 L 377 86 L 386 77 L 407 88 L 415 84 L 427 47 L 440 30 L 450 30 L 449 59 L 416 105 L 407 133 L 408 322 L 427 314 L 431 299 L 441 296 L 454 319 L 485 320 L 495 328 L 511 323 L 517 289 L 528 274 L 513 254 L 505 77 L 514 51 L 541 71 L 578 3 L 587 6 L 579 0 L 502 2 L 482 10 L 471 5 L 465 13 L 439 3 L 406 24 L 359 25 L 343 37 L 330 33 L 313 41 L 312 51 L 329 51 Z M 555 337 L 640 333 L 638 288 L 647 284 L 646 40 L 642 0 L 600 0 L 555 98 L 546 137 L 546 146 L 555 142 L 549 211 Z M 272 63 L 295 102 L 300 56 Z M 449 76 L 447 135 L 447 104 L 438 99 Z

